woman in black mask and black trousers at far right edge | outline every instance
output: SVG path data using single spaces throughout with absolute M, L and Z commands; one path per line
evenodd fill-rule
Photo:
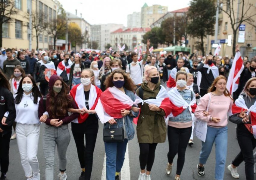
M 246 180 L 253 180 L 253 149 L 256 147 L 255 132 L 252 124 L 255 123 L 256 113 L 256 78 L 249 79 L 239 98 L 232 107 L 233 115 L 229 116 L 229 121 L 237 124 L 236 137 L 241 151 L 227 168 L 233 178 L 238 179 L 236 167 L 245 161 Z M 248 113 L 250 110 L 250 113 Z

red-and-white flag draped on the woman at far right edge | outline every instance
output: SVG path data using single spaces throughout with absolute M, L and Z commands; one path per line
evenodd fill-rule
M 238 97 L 238 99 L 235 101 L 235 104 L 232 106 L 232 113 L 241 113 L 241 110 L 246 110 L 247 116 L 250 114 L 251 117 L 251 125 L 250 124 L 244 124 L 245 127 L 248 129 L 249 132 L 251 132 L 256 138 L 256 101 L 255 103 L 248 109 L 248 107 L 245 105 L 245 100 L 242 95 Z M 252 127 L 252 128 L 251 128 Z

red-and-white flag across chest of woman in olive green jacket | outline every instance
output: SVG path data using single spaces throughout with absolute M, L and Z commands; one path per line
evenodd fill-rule
M 160 107 L 161 109 L 164 110 L 165 112 L 165 116 L 169 116 L 171 111 L 172 111 L 172 107 L 170 106 L 170 100 L 168 98 L 168 94 L 166 89 L 164 88 L 164 86 L 161 85 L 161 89 L 158 92 L 158 95 L 156 96 L 155 99 L 146 99 L 146 100 L 142 100 L 138 95 L 135 94 L 136 97 L 136 103 L 142 103 L 142 105 L 144 103 L 147 104 L 154 104 L 157 107 Z M 138 116 L 139 117 L 139 116 Z M 138 118 L 134 118 L 133 119 L 134 124 L 137 124 L 138 122 Z

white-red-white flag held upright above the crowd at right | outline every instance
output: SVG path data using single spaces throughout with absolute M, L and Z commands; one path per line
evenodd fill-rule
M 238 88 L 239 77 L 243 70 L 243 60 L 241 58 L 240 52 L 238 51 L 236 52 L 227 80 L 227 89 L 229 90 L 231 95 Z

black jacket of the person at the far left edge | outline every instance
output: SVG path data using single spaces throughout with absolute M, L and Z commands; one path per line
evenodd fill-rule
M 0 87 L 0 119 L 1 121 L 7 111 L 9 111 L 9 115 L 5 123 L 8 125 L 2 125 L 2 122 L 0 122 L 0 128 L 4 130 L 3 135 L 11 132 L 12 123 L 16 118 L 16 110 L 15 110 L 14 99 L 11 91 L 9 91 L 6 88 Z

